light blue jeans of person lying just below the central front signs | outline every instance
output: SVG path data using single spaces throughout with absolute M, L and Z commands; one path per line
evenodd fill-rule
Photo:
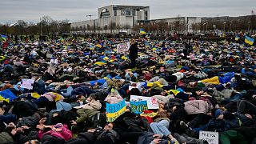
M 150 127 L 153 130 L 154 134 L 161 134 L 162 136 L 168 136 L 170 133 L 169 128 L 170 122 L 167 120 L 162 120 L 160 122 L 152 122 L 150 123 Z

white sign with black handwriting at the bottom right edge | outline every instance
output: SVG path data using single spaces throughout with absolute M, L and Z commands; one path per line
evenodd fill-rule
M 218 132 L 199 131 L 199 139 L 206 140 L 209 144 L 218 144 Z

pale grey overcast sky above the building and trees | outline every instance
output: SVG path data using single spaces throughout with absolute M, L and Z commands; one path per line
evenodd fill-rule
M 255 0 L 0 0 L 0 23 L 39 22 L 43 15 L 70 22 L 98 18 L 98 7 L 108 5 L 150 6 L 150 19 L 180 16 L 238 16 L 256 11 Z

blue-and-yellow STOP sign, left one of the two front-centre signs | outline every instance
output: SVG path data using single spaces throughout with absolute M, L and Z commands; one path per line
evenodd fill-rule
M 126 112 L 126 101 L 110 104 L 106 102 L 106 122 L 114 122 L 120 115 Z

